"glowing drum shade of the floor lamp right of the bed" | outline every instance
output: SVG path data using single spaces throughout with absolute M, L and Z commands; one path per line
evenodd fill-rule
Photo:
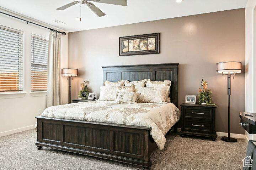
M 242 63 L 241 62 L 220 62 L 217 63 L 217 72 L 223 74 L 235 74 L 241 73 Z

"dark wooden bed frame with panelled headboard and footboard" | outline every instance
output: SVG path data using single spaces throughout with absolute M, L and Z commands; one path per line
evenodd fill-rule
M 177 66 L 178 63 L 105 66 L 102 67 L 103 80 L 171 80 L 170 98 L 177 106 Z M 49 147 L 150 169 L 150 154 L 157 145 L 150 136 L 149 127 L 41 116 L 36 118 L 38 149 Z M 177 131 L 177 123 L 174 131 Z

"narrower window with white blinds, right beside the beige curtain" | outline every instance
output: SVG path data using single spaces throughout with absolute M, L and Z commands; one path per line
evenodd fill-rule
M 31 91 L 47 90 L 47 59 L 49 41 L 31 36 Z

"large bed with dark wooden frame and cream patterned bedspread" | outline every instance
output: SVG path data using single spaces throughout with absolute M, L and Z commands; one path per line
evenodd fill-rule
M 46 109 L 43 116 L 36 117 L 37 148 L 49 147 L 136 164 L 143 166 L 143 169 L 150 169 L 150 154 L 157 147 L 162 149 L 165 143 L 165 138 L 156 134 L 166 134 L 170 128 L 177 131 L 179 117 L 174 114 L 178 112 L 175 110 L 177 106 L 177 66 L 178 63 L 102 67 L 103 81 L 171 80 L 172 103 L 154 104 L 153 106 L 152 103 L 117 105 L 113 102 L 91 101 L 60 105 L 54 107 L 54 111 Z M 86 116 L 85 112 L 73 114 L 76 109 L 80 111 L 85 108 L 85 111 L 88 111 L 88 108 L 95 109 L 95 107 L 100 109 L 93 112 L 94 114 L 89 112 Z M 119 122 L 120 119 L 113 115 L 120 113 L 114 113 L 114 111 L 123 108 L 139 109 L 139 113 L 142 109 L 146 111 L 136 114 L 137 117 L 132 115 L 133 121 L 129 117 L 126 122 Z M 163 121 L 164 123 L 161 122 L 161 125 L 157 127 L 151 125 L 148 119 L 144 120 L 143 114 L 153 117 L 153 111 L 161 112 L 160 115 L 170 115 L 172 123 L 162 125 L 165 123 Z M 167 113 L 171 111 L 173 113 Z M 158 131 L 159 129 L 162 133 Z

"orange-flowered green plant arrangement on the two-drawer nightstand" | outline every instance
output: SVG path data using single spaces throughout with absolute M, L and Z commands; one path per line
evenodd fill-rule
M 212 98 L 212 91 L 207 89 L 207 82 L 202 79 L 201 81 L 201 88 L 198 89 L 198 100 L 199 104 L 206 103 L 206 105 L 213 105 L 217 106 L 216 104 L 211 104 Z

